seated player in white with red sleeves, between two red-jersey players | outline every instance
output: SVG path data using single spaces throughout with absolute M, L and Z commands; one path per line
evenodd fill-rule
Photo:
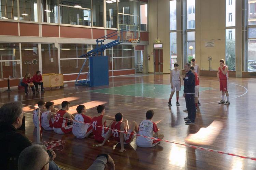
M 75 119 L 73 121 L 72 133 L 77 138 L 88 137 L 90 133 L 93 132 L 93 128 L 90 125 L 92 119 L 85 115 L 87 110 L 84 105 L 77 106 L 76 111 L 78 114 L 75 115 Z

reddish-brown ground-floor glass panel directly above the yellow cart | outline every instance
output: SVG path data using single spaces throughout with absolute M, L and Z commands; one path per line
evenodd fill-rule
M 58 49 L 53 44 L 41 44 L 42 74 L 59 73 Z

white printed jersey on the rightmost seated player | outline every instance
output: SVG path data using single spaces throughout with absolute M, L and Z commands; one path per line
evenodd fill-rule
M 139 126 L 139 135 L 153 138 L 153 132 L 158 132 L 156 124 L 150 120 L 143 120 Z M 153 139 L 137 136 L 136 143 L 140 147 L 150 148 L 154 146 Z

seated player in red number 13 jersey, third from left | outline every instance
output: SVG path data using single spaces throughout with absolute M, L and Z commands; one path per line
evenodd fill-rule
M 67 112 L 69 110 L 69 104 L 70 104 L 69 102 L 63 101 L 61 103 L 62 109 L 60 109 L 56 113 L 56 117 L 53 123 L 53 130 L 57 134 L 66 134 L 66 133 L 72 132 L 73 125 L 72 124 L 68 125 L 68 122 L 73 123 L 72 120 L 74 119 L 74 117 L 72 114 Z

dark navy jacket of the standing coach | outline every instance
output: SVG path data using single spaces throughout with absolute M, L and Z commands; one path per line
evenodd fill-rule
M 184 93 L 195 93 L 195 74 L 189 70 L 184 80 Z

